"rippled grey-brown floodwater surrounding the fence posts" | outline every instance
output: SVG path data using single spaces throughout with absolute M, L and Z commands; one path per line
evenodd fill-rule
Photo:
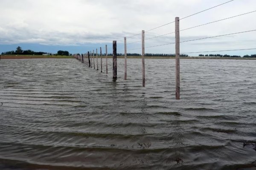
M 256 60 L 117 60 L 1 60 L 0 169 L 256 169 Z

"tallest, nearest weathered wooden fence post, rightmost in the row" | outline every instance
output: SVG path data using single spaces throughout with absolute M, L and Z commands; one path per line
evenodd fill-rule
M 180 18 L 175 17 L 176 99 L 180 99 Z

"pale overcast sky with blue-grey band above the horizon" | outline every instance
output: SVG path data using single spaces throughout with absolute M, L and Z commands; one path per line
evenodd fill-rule
M 120 53 L 123 37 L 139 34 L 172 22 L 175 17 L 186 17 L 228 0 L 0 0 L 0 53 L 23 50 L 56 53 L 85 53 L 117 40 Z M 192 17 L 180 20 L 180 29 L 197 26 L 215 20 L 256 10 L 256 0 L 234 0 Z M 229 20 L 180 32 L 180 41 L 230 34 L 256 29 L 256 12 Z M 167 34 L 175 30 L 169 24 L 145 33 L 145 38 Z M 136 42 L 141 35 L 128 38 Z M 184 42 L 180 52 L 215 51 L 256 48 L 256 31 L 216 37 L 206 40 Z M 175 41 L 169 34 L 145 41 L 145 46 L 161 45 Z M 128 45 L 128 53 L 141 53 L 141 43 Z M 105 52 L 105 50 L 103 50 Z M 175 45 L 146 48 L 146 53 L 175 53 Z M 217 52 L 212 54 L 256 54 L 255 50 Z M 198 54 L 190 54 L 197 56 Z

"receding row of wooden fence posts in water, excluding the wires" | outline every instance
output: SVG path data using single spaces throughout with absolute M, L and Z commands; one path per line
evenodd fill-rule
M 175 17 L 175 96 L 176 99 L 180 99 L 180 20 L 179 17 Z M 124 58 L 125 58 L 125 80 L 127 80 L 127 44 L 126 44 L 126 37 L 124 37 Z M 93 67 L 95 69 L 95 62 L 94 62 L 94 50 L 93 50 L 93 60 L 90 61 L 91 53 L 87 53 L 87 60 L 85 60 L 86 64 L 89 67 Z M 100 47 L 100 56 L 101 56 L 101 72 L 102 72 L 102 48 Z M 74 55 L 76 59 L 79 59 L 81 62 L 84 62 L 84 57 L 78 55 Z M 106 74 L 108 74 L 108 51 L 106 45 Z M 142 30 L 142 85 L 145 87 L 145 31 Z M 93 66 L 92 66 L 93 61 Z M 97 70 L 98 68 L 98 49 L 96 49 L 96 64 Z M 113 80 L 117 79 L 117 60 L 116 60 L 116 41 L 113 41 Z

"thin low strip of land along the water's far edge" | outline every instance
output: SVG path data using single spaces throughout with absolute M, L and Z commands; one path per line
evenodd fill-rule
M 0 59 L 67 59 L 74 58 L 73 56 L 42 56 L 42 55 L 0 55 Z M 105 56 L 102 56 L 105 58 Z M 96 58 L 96 56 L 94 56 Z M 98 56 L 100 58 L 100 56 Z M 108 56 L 112 58 L 112 56 Z M 117 58 L 124 58 L 123 56 L 117 56 Z M 128 59 L 140 59 L 141 56 L 127 56 Z M 163 57 L 163 56 L 145 56 L 145 59 L 175 59 L 175 57 Z M 244 58 L 244 57 L 180 57 L 180 59 L 256 59 L 256 58 Z

